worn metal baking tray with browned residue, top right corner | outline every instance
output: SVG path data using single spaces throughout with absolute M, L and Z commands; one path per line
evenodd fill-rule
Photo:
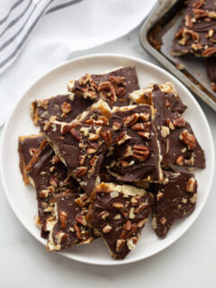
M 175 32 L 181 22 L 185 0 L 159 0 L 142 25 L 139 40 L 144 49 L 216 112 L 216 93 L 206 73 L 205 59 L 173 57 Z

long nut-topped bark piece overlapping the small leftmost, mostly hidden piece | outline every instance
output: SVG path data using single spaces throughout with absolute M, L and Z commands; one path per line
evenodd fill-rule
M 38 215 L 35 222 L 40 226 L 41 237 L 47 238 L 54 207 L 53 196 L 66 190 L 75 192 L 78 190 L 77 184 L 45 139 L 32 157 L 27 171 L 36 187 Z

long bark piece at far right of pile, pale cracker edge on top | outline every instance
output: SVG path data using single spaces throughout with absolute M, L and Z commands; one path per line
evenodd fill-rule
M 205 167 L 204 152 L 191 125 L 175 111 L 175 99 L 168 101 L 159 85 L 136 91 L 130 97 L 137 103 L 151 103 L 155 109 L 154 123 L 163 157 L 161 165 Z

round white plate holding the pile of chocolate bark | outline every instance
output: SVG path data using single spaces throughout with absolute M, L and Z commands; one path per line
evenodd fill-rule
M 35 127 L 31 121 L 29 113 L 30 103 L 35 99 L 43 99 L 54 94 L 65 93 L 67 91 L 67 81 L 76 79 L 85 73 L 103 72 L 114 67 L 128 66 L 131 64 L 137 67 L 140 87 L 144 87 L 152 82 L 163 83 L 166 81 L 171 81 L 175 85 L 183 102 L 188 106 L 188 109 L 184 112 L 184 117 L 191 123 L 197 139 L 205 150 L 206 169 L 195 171 L 199 186 L 195 211 L 193 211 L 190 216 L 185 217 L 184 220 L 177 221 L 165 239 L 161 240 L 157 238 L 148 223 L 147 227 L 142 231 L 142 237 L 136 249 L 122 261 L 113 260 L 110 257 L 101 238 L 95 240 L 91 245 L 73 247 L 63 252 L 58 252 L 60 255 L 85 263 L 121 265 L 150 257 L 174 243 L 176 239 L 180 238 L 184 232 L 189 229 L 194 220 L 196 220 L 210 192 L 214 171 L 214 148 L 211 130 L 201 107 L 184 85 L 162 68 L 139 58 L 100 54 L 76 58 L 54 68 L 48 74 L 42 76 L 35 84 L 31 85 L 31 88 L 16 104 L 14 112 L 12 112 L 4 127 L 0 154 L 4 191 L 16 216 L 23 223 L 23 226 L 30 231 L 33 237 L 45 245 L 46 241 L 40 238 L 40 230 L 33 222 L 33 216 L 37 211 L 34 189 L 31 186 L 24 186 L 18 165 L 18 136 L 38 132 L 38 128 Z M 43 248 L 44 257 L 46 257 L 46 253 L 48 252 L 46 252 L 45 247 Z

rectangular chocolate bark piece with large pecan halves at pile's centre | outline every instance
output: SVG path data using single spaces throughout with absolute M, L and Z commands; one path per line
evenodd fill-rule
M 161 181 L 161 157 L 151 107 L 139 104 L 114 108 L 110 121 L 118 135 L 114 137 L 115 166 L 121 169 L 117 179 L 124 182 Z

